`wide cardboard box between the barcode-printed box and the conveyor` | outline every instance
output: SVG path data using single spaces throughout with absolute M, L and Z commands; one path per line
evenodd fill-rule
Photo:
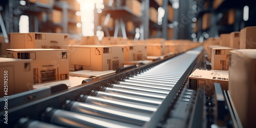
M 108 46 L 68 46 L 75 70 L 108 71 L 123 67 L 124 48 Z

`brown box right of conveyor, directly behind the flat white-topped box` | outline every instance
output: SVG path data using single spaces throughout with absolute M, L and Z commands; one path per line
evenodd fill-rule
M 236 48 L 214 47 L 211 49 L 211 69 L 228 71 L 229 51 Z

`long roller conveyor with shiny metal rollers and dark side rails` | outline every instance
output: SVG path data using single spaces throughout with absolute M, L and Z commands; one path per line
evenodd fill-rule
M 169 106 L 184 92 L 184 82 L 200 64 L 202 50 L 199 47 L 74 89 L 10 106 L 7 126 L 157 127 Z M 192 92 L 186 94 L 183 99 L 188 102 Z M 4 112 L 1 119 L 2 115 Z

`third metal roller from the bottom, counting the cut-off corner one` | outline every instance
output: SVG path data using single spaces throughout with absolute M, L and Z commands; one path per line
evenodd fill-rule
M 103 117 L 136 125 L 143 125 L 145 122 L 150 121 L 151 114 L 128 111 L 125 109 L 111 108 L 108 106 L 100 106 L 89 103 L 82 103 L 76 101 L 66 101 L 65 110 Z

